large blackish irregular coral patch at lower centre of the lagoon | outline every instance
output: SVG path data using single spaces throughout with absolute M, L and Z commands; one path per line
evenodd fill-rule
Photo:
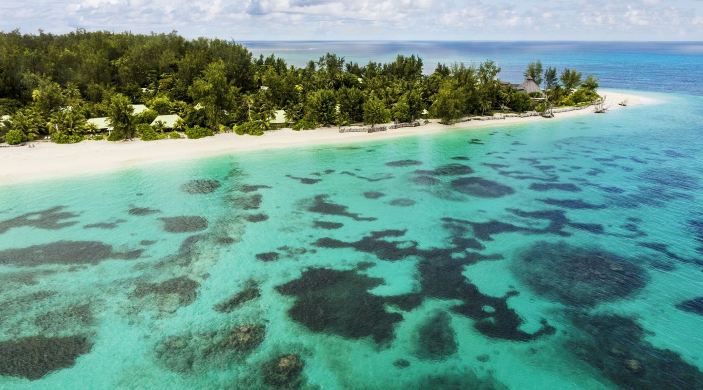
M 295 297 L 288 315 L 313 332 L 384 342 L 393 338 L 394 324 L 403 316 L 385 311 L 384 298 L 368 292 L 382 283 L 355 271 L 307 269 L 276 290 Z

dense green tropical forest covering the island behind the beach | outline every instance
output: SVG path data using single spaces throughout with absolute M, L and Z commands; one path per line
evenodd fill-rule
M 276 110 L 294 130 L 317 126 L 374 126 L 430 116 L 454 123 L 468 115 L 543 111 L 591 102 L 598 79 L 574 69 L 527 65 L 543 93 L 501 83 L 494 62 L 478 67 L 423 60 L 359 65 L 327 54 L 305 67 L 271 55 L 254 58 L 240 44 L 170 34 L 21 34 L 0 32 L 0 140 L 19 144 L 49 136 L 54 142 L 103 139 L 86 119 L 106 117 L 109 140 L 189 138 L 234 130 L 261 135 Z M 148 109 L 134 114 L 132 105 Z M 171 126 L 157 116 L 177 114 Z M 169 131 L 171 133 L 167 133 Z

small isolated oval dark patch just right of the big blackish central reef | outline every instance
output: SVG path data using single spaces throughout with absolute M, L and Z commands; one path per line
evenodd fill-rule
M 458 344 L 451 328 L 451 317 L 444 311 L 434 314 L 420 325 L 415 356 L 420 359 L 441 360 L 456 354 Z

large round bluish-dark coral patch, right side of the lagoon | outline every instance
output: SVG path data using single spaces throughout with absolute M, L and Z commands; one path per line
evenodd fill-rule
M 633 295 L 648 280 L 647 272 L 632 260 L 605 250 L 544 241 L 525 250 L 512 271 L 539 295 L 586 307 Z

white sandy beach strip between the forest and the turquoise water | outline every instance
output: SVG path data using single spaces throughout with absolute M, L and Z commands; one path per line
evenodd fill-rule
M 618 102 L 628 100 L 629 106 L 652 105 L 658 100 L 632 93 L 618 93 L 600 90 L 606 95 L 606 106 L 610 110 L 623 109 Z M 446 131 L 472 130 L 495 126 L 511 126 L 536 121 L 553 121 L 575 116 L 595 114 L 591 107 L 576 111 L 555 114 L 552 119 L 541 116 L 527 118 L 506 118 L 493 121 L 468 121 L 446 126 L 430 121 L 419 127 L 399 128 L 378 133 L 350 132 L 339 133 L 337 127 L 317 128 L 316 130 L 293 131 L 290 128 L 270 130 L 264 135 L 236 135 L 221 133 L 214 137 L 198 140 L 131 140 L 123 142 L 83 141 L 77 144 L 54 144 L 53 142 L 32 142 L 34 147 L 12 147 L 0 149 L 0 184 L 27 182 L 72 175 L 101 173 L 135 166 L 140 163 L 157 161 L 197 159 L 233 152 L 255 149 L 283 149 L 285 147 L 316 146 L 346 142 L 386 140 L 408 135 L 442 133 Z

